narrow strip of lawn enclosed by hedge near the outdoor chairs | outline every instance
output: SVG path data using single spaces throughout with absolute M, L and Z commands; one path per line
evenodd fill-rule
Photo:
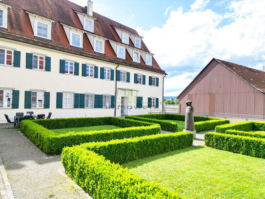
M 102 125 L 102 126 L 92 126 L 92 127 L 80 127 L 80 128 L 68 128 L 68 129 L 54 129 L 55 133 L 69 133 L 69 132 L 88 132 L 88 131 L 101 131 L 101 130 L 111 130 L 111 129 L 121 129 L 121 127 L 116 127 L 112 125 Z

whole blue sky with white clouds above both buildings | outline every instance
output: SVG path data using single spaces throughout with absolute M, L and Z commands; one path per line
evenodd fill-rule
M 92 1 L 94 12 L 143 36 L 168 74 L 164 96 L 178 96 L 212 58 L 259 70 L 265 65 L 265 0 Z

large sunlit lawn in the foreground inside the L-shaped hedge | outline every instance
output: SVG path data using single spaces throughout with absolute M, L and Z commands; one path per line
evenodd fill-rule
M 188 199 L 265 198 L 265 159 L 189 147 L 123 166 Z

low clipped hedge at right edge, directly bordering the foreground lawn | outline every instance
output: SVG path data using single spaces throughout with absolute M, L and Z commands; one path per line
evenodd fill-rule
M 261 138 L 209 132 L 204 134 L 204 143 L 215 149 L 265 158 L 265 139 Z

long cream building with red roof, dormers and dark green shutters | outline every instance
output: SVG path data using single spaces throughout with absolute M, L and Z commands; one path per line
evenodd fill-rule
M 0 121 L 162 109 L 163 78 L 142 37 L 68 0 L 0 1 Z

